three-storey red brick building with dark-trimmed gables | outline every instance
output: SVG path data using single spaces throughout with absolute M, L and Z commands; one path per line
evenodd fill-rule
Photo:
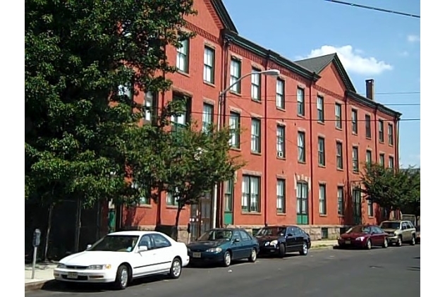
M 248 76 L 224 98 L 223 124 L 242 131 L 232 135 L 232 150 L 248 164 L 221 186 L 217 224 L 246 229 L 299 224 L 318 238 L 375 222 L 379 207 L 355 189 L 364 162 L 398 168 L 401 114 L 374 101 L 374 80 L 367 80 L 363 97 L 336 54 L 290 61 L 238 35 L 221 0 L 195 0 L 195 9 L 187 29 L 196 37 L 181 49 L 167 49 L 169 62 L 178 67 L 168 75 L 171 91 L 137 100 L 159 107 L 185 95 L 190 108 L 176 124 L 192 118 L 216 122 L 221 90 L 252 71 L 281 73 Z M 192 222 L 193 237 L 210 227 L 211 197 L 181 214 L 181 227 Z M 120 224 L 143 229 L 174 224 L 174 204 L 169 194 L 159 204 L 141 200 L 139 207 L 123 211 Z

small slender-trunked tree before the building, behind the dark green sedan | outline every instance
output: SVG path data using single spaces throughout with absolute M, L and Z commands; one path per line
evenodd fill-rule
M 197 203 L 212 192 L 215 183 L 233 178 L 244 165 L 239 155 L 229 153 L 228 128 L 217 131 L 214 126 L 207 126 L 202 131 L 194 121 L 186 126 L 170 121 L 172 115 L 184 112 L 184 100 L 167 104 L 156 125 L 138 131 L 135 137 L 144 143 L 144 149 L 133 150 L 135 154 L 129 159 L 133 178 L 146 197 L 157 199 L 165 191 L 176 201 L 176 226 L 185 205 Z

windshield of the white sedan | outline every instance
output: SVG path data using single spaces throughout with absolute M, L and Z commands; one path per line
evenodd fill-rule
M 93 244 L 88 251 L 132 252 L 138 242 L 135 235 L 107 235 Z

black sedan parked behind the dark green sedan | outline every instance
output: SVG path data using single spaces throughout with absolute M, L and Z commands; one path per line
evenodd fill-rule
M 298 252 L 307 255 L 310 236 L 298 226 L 267 226 L 257 232 L 260 243 L 260 255 L 279 255 Z

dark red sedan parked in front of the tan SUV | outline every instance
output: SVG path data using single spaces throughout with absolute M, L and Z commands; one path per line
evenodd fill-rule
M 358 225 L 341 234 L 338 239 L 340 248 L 366 248 L 370 250 L 373 246 L 388 247 L 388 234 L 379 226 Z

